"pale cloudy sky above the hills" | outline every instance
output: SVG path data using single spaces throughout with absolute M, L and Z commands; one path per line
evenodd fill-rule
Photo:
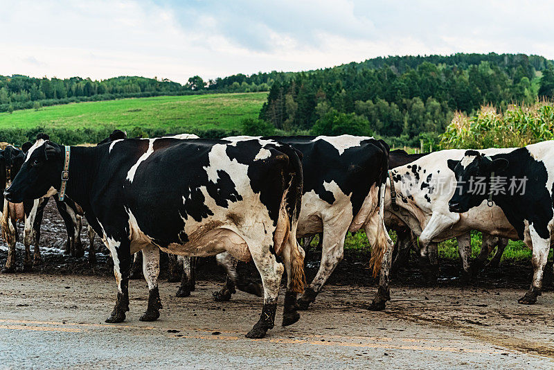
M 554 1 L 0 0 L 0 75 L 169 78 L 387 55 L 554 59 Z

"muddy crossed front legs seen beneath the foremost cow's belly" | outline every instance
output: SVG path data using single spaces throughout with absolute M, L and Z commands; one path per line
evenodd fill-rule
M 242 274 L 237 272 L 237 260 L 229 253 L 224 252 L 215 256 L 217 263 L 224 268 L 227 273 L 225 285 L 219 292 L 213 292 L 213 300 L 217 302 L 229 301 L 231 295 L 235 294 L 236 290 L 241 290 L 249 294 L 254 294 L 257 297 L 262 297 L 262 287 L 258 283 L 249 281 Z

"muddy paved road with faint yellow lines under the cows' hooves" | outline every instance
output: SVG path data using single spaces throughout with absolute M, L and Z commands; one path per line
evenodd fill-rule
M 373 289 L 330 286 L 294 326 L 247 340 L 258 298 L 215 303 L 216 285 L 200 282 L 180 299 L 176 288 L 161 283 L 161 318 L 143 323 L 146 284 L 131 281 L 127 321 L 105 324 L 113 279 L 2 274 L 0 369 L 554 367 L 553 292 L 521 306 L 523 291 L 395 288 L 370 312 Z

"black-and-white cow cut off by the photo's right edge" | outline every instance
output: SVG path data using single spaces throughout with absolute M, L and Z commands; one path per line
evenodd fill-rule
M 519 239 L 533 250 L 533 282 L 519 303 L 535 303 L 554 240 L 554 141 L 494 152 L 467 150 L 458 158 L 448 161 L 459 190 L 449 200 L 450 211 L 471 213 L 486 202 L 503 211 Z M 476 191 L 478 180 L 484 191 Z

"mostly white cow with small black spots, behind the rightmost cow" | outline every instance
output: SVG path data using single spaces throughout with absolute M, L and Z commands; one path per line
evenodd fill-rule
M 498 149 L 489 149 L 495 152 Z M 386 222 L 404 222 L 419 236 L 422 267 L 429 267 L 429 255 L 436 258 L 437 245 L 450 238 L 458 239 L 463 270 L 470 274 L 471 237 L 470 231 L 483 232 L 481 254 L 474 269 L 478 270 L 492 249 L 498 245 L 494 262 L 499 262 L 506 238 L 517 239 L 499 207 L 489 208 L 486 204 L 468 213 L 449 211 L 448 200 L 456 188 L 454 173 L 448 167 L 448 160 L 460 158 L 464 150 L 441 150 L 416 161 L 394 168 L 386 192 Z M 393 188 L 391 188 L 391 181 Z M 394 190 L 393 190 L 394 189 Z M 391 191 L 395 197 L 391 196 Z M 431 258 L 432 260 L 433 258 Z M 429 274 L 429 272 L 427 272 Z

